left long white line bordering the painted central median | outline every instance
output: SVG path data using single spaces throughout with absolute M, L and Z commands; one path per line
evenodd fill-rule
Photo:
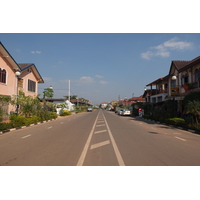
M 91 141 L 91 139 L 92 139 L 92 135 L 93 135 L 93 132 L 94 132 L 94 129 L 95 129 L 95 126 L 96 126 L 98 117 L 99 117 L 99 113 L 98 113 L 97 118 L 96 118 L 96 120 L 95 120 L 95 122 L 94 122 L 94 125 L 93 125 L 93 127 L 92 127 L 92 130 L 90 131 L 90 135 L 89 135 L 89 137 L 88 137 L 88 139 L 87 139 L 87 141 L 86 141 L 86 143 L 85 143 L 85 146 L 84 146 L 84 148 L 83 148 L 83 151 L 82 151 L 82 153 L 81 153 L 81 156 L 80 156 L 80 158 L 79 158 L 79 160 L 78 160 L 77 166 L 83 166 L 83 163 L 84 163 L 84 160 L 85 160 L 85 157 L 86 157 L 86 154 L 87 154 L 87 150 L 88 150 L 89 145 L 90 145 L 90 141 Z

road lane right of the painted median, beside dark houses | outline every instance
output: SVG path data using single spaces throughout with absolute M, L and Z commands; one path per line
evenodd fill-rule
M 151 125 L 140 124 L 130 117 L 105 112 L 126 165 L 181 166 L 199 165 L 198 150 L 170 134 L 159 134 Z

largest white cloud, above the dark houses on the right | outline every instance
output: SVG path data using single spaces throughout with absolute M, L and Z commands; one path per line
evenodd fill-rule
M 169 57 L 172 50 L 187 50 L 193 47 L 193 43 L 187 41 L 179 41 L 178 38 L 172 38 L 162 44 L 153 46 L 150 50 L 141 53 L 141 58 L 150 60 L 152 57 Z

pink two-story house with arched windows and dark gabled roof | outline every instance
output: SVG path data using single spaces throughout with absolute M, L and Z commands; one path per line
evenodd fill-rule
M 16 63 L 0 42 L 0 95 L 12 97 L 22 90 L 26 96 L 37 96 L 38 83 L 44 81 L 36 66 Z M 4 114 L 9 114 L 16 111 L 16 106 L 8 105 L 2 109 Z

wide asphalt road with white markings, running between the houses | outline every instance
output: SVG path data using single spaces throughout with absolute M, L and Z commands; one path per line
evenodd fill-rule
M 199 166 L 200 135 L 97 110 L 0 136 L 1 166 Z

